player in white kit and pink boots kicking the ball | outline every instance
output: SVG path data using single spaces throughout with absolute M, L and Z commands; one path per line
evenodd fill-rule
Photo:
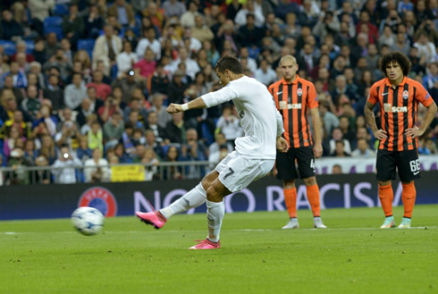
M 264 177 L 272 170 L 276 148 L 282 152 L 288 150 L 283 139 L 282 115 L 278 113 L 273 97 L 265 85 L 243 74 L 239 60 L 224 56 L 216 63 L 215 71 L 225 87 L 198 97 L 188 104 L 171 104 L 168 113 L 179 113 L 188 109 L 208 108 L 232 100 L 240 116 L 245 136 L 236 139 L 236 150 L 223 158 L 215 171 L 187 194 L 153 213 L 137 212 L 137 217 L 156 229 L 173 214 L 180 214 L 206 201 L 208 237 L 190 249 L 221 248 L 219 235 L 225 205 L 223 197 L 245 189 L 252 181 Z

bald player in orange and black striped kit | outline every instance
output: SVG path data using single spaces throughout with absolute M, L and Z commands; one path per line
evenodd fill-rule
M 321 122 L 318 113 L 318 99 L 315 86 L 297 75 L 295 57 L 286 55 L 280 60 L 282 80 L 269 86 L 275 105 L 282 114 L 283 136 L 289 143 L 287 153 L 277 152 L 277 177 L 283 181 L 284 200 L 290 221 L 283 229 L 299 228 L 297 218 L 297 189 L 295 180 L 303 179 L 307 188 L 307 199 L 314 214 L 314 227 L 326 228 L 321 220 L 319 188 L 315 176 L 315 158 L 323 154 L 321 145 Z M 308 114 L 313 122 L 315 142 L 308 124 Z M 299 172 L 295 168 L 298 162 Z

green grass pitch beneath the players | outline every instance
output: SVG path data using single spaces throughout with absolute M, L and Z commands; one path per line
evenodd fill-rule
M 400 223 L 402 207 L 394 209 Z M 70 219 L 0 222 L 0 293 L 438 293 L 438 206 L 416 206 L 410 230 L 377 229 L 380 208 L 328 209 L 326 230 L 281 230 L 286 212 L 226 214 L 218 250 L 206 215 L 156 231 L 134 216 L 86 237 Z

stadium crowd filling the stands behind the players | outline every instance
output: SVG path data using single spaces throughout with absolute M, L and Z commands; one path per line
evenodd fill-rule
M 438 102 L 437 0 L 3 0 L 0 10 L 9 183 L 109 181 L 106 168 L 79 180 L 77 165 L 217 164 L 241 135 L 232 104 L 173 115 L 165 107 L 220 88 L 223 55 L 266 86 L 282 79 L 282 56 L 296 56 L 299 77 L 316 86 L 324 156 L 375 156 L 364 105 L 383 78 L 381 55 L 408 55 L 409 77 Z M 435 119 L 420 154 L 438 153 L 437 134 Z M 34 180 L 20 172 L 34 165 L 60 168 Z M 199 177 L 177 167 L 166 174 Z

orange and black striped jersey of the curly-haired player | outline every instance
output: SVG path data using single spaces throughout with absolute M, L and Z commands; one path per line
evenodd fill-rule
M 375 82 L 369 91 L 368 101 L 380 104 L 382 113 L 382 130 L 387 132 L 387 139 L 379 144 L 379 149 L 388 151 L 414 150 L 418 141 L 406 136 L 406 130 L 413 128 L 417 122 L 418 104 L 431 105 L 434 100 L 416 80 L 404 77 L 400 85 L 392 88 L 385 78 Z

